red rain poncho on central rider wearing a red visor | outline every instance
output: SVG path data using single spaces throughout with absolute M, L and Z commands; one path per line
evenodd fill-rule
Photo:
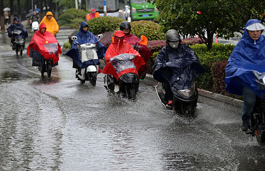
M 118 40 L 117 37 L 123 37 L 121 40 Z M 123 53 L 129 53 L 129 54 L 134 54 L 136 55 L 135 59 L 133 59 L 133 64 L 135 65 L 136 69 L 133 68 L 127 68 L 124 69 L 123 71 L 119 72 L 117 74 L 116 70 L 114 69 L 113 65 L 110 63 L 110 59 Z M 118 78 L 126 73 L 135 73 L 138 75 L 138 70 L 139 68 L 145 64 L 144 60 L 141 58 L 140 54 L 132 48 L 132 46 L 124 41 L 124 33 L 121 30 L 118 30 L 114 34 L 114 42 L 110 44 L 109 48 L 106 51 L 105 54 L 105 61 L 106 61 L 106 66 L 103 68 L 102 73 L 104 74 L 111 74 L 113 75 L 117 81 Z

